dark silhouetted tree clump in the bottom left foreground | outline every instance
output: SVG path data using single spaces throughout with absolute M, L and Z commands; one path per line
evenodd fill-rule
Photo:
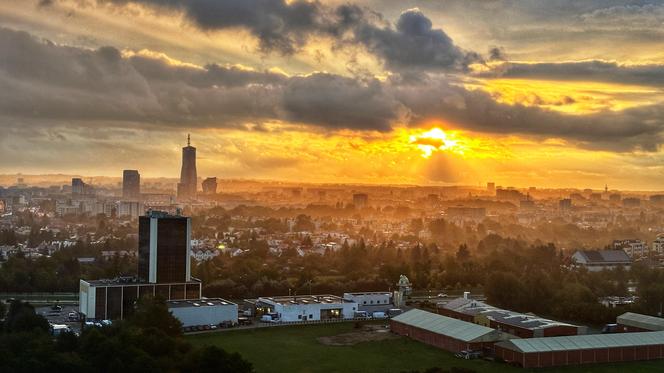
M 145 300 L 129 320 L 86 328 L 80 337 L 53 337 L 31 305 L 15 301 L 0 324 L 0 371 L 243 373 L 252 366 L 237 353 L 185 341 L 180 322 L 160 300 Z

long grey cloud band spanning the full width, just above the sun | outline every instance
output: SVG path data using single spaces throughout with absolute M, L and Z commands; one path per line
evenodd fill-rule
M 580 146 L 655 150 L 664 141 L 664 106 L 564 115 L 497 103 L 444 74 L 381 82 L 317 73 L 288 77 L 208 65 L 173 65 L 165 58 L 123 56 L 113 47 L 87 50 L 0 29 L 0 114 L 22 122 L 123 122 L 156 128 L 242 127 L 272 120 L 317 128 L 390 130 L 444 119 L 459 128 Z M 3 120 L 7 126 L 11 120 Z

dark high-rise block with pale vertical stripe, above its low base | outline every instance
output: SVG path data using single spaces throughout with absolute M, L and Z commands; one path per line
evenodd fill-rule
M 149 283 L 191 280 L 191 218 L 150 211 L 138 220 L 138 278 Z

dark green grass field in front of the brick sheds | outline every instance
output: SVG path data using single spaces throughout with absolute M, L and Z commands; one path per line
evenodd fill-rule
M 257 372 L 403 372 L 431 367 L 473 369 L 477 372 L 526 372 L 506 364 L 460 360 L 451 353 L 398 337 L 353 346 L 327 346 L 317 338 L 353 332 L 352 323 L 282 326 L 188 336 L 195 345 L 214 344 L 239 352 Z M 664 372 L 664 361 L 585 365 L 539 372 Z

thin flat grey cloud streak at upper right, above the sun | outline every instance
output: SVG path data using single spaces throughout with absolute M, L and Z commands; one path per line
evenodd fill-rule
M 504 63 L 483 77 L 597 81 L 664 86 L 664 65 L 619 65 L 615 62 Z

